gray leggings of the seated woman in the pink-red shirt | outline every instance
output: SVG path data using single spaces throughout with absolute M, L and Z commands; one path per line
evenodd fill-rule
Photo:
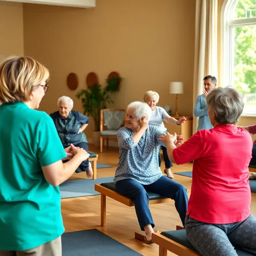
M 256 255 L 256 219 L 231 224 L 210 224 L 185 218 L 188 240 L 203 256 L 237 256 L 234 246 Z

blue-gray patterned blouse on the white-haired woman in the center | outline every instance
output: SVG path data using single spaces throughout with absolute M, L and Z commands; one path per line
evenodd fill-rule
M 152 184 L 163 175 L 158 164 L 159 146 L 165 146 L 158 140 L 163 132 L 149 125 L 137 146 L 133 134 L 127 127 L 117 131 L 120 156 L 114 182 L 131 178 L 143 185 Z

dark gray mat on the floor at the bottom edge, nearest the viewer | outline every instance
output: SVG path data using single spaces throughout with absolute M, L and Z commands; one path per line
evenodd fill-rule
M 98 229 L 64 233 L 61 240 L 62 256 L 142 256 Z

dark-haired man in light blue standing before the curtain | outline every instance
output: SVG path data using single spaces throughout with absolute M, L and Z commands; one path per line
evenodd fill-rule
M 207 129 L 210 130 L 213 126 L 210 124 L 210 119 L 208 116 L 208 110 L 206 105 L 206 97 L 212 89 L 214 89 L 217 85 L 217 79 L 215 76 L 207 75 L 203 79 L 204 83 L 204 91 L 203 94 L 200 94 L 196 99 L 196 105 L 194 109 L 195 117 L 199 117 L 199 122 L 197 126 L 197 131 Z

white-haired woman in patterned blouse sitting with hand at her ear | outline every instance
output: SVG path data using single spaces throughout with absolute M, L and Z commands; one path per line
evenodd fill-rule
M 136 214 L 145 239 L 151 241 L 153 219 L 149 209 L 147 191 L 175 200 L 175 207 L 184 224 L 188 195 L 182 184 L 162 174 L 158 165 L 158 138 L 163 134 L 156 126 L 149 126 L 151 108 L 135 101 L 127 106 L 126 127 L 117 132 L 119 163 L 114 177 L 116 190 L 135 203 Z M 178 137 L 175 143 L 181 142 Z

